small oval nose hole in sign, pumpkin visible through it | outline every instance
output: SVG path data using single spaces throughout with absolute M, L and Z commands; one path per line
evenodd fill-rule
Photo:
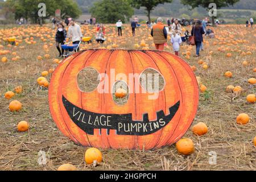
M 117 105 L 125 105 L 129 99 L 129 87 L 124 81 L 116 81 L 113 85 L 113 101 Z

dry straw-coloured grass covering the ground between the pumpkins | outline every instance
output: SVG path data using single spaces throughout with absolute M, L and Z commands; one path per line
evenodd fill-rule
M 48 26 L 49 27 L 49 26 Z M 130 28 L 124 31 L 123 38 L 113 36 L 115 29 L 113 25 L 107 26 L 106 34 L 109 40 L 102 46 L 112 46 L 118 44 L 119 48 L 134 48 L 134 44 L 140 44 L 141 40 L 146 40 L 149 48 L 152 47 L 152 40 L 148 40 L 149 30 L 140 28 L 135 38 L 130 37 Z M 88 35 L 92 27 L 88 28 L 87 34 L 84 28 L 84 35 Z M 35 28 L 34 28 L 35 29 Z M 23 29 L 23 31 L 26 28 Z M 9 61 L 0 63 L 0 169 L 2 170 L 55 170 L 60 164 L 72 163 L 80 170 L 256 170 L 255 147 L 252 139 L 255 137 L 256 118 L 255 104 L 247 104 L 245 97 L 249 93 L 255 93 L 255 86 L 249 86 L 247 79 L 255 77 L 255 28 L 245 28 L 243 26 L 220 26 L 214 29 L 218 38 L 225 38 L 225 42 L 232 40 L 247 40 L 245 43 L 237 45 L 224 45 L 230 49 L 241 49 L 251 51 L 251 55 L 241 56 L 240 53 L 232 50 L 224 52 L 218 51 L 219 43 L 223 40 L 207 39 L 205 50 L 201 52 L 200 59 L 207 61 L 208 70 L 201 68 L 197 64 L 199 59 L 191 56 L 185 59 L 190 65 L 196 65 L 196 76 L 201 77 L 201 81 L 208 87 L 207 94 L 200 95 L 200 105 L 195 121 L 205 122 L 209 127 L 209 132 L 197 137 L 191 130 L 184 137 L 189 137 L 195 143 L 196 151 L 190 156 L 177 154 L 175 145 L 166 146 L 156 150 L 102 150 L 104 162 L 100 166 L 93 167 L 85 164 L 85 147 L 77 146 L 57 129 L 52 121 L 48 109 L 47 89 L 42 89 L 36 83 L 36 78 L 40 73 L 49 68 L 55 68 L 52 59 L 56 57 L 57 51 L 54 46 L 49 47 L 51 59 L 43 61 L 36 60 L 38 55 L 44 55 L 43 42 L 35 37 L 35 45 L 27 45 L 24 42 L 17 47 L 9 49 L 16 52 L 21 57 L 19 61 L 11 61 L 12 55 L 7 55 Z M 44 30 L 46 31 L 46 30 Z M 9 32 L 11 32 L 9 30 Z M 53 36 L 54 32 L 47 29 L 46 34 Z M 43 32 L 42 32 L 43 33 Z M 25 33 L 25 35 L 28 33 Z M 0 35 L 1 36 L 1 35 Z M 47 40 L 49 44 L 50 40 Z M 214 45 L 213 42 L 217 44 Z M 52 42 L 54 45 L 54 41 Z M 26 46 L 22 49 L 20 46 Z M 99 48 L 100 46 L 86 45 L 84 48 Z M 190 50 L 194 55 L 195 48 Z M 224 49 L 224 48 L 222 48 Z M 166 51 L 171 51 L 171 47 L 166 47 Z M 181 52 L 189 51 L 187 47 L 181 47 Z M 209 56 L 209 51 L 213 51 Z M 227 52 L 232 52 L 232 57 L 226 57 Z M 0 56 L 2 58 L 3 56 Z M 242 61 L 247 60 L 249 65 L 242 67 Z M 232 71 L 233 78 L 223 76 L 225 71 Z M 48 76 L 48 80 L 51 75 Z M 23 109 L 18 113 L 11 113 L 8 109 L 10 101 L 3 98 L 7 90 L 13 90 L 15 86 L 22 85 L 24 92 L 17 94 L 12 100 L 22 102 Z M 226 93 L 228 85 L 240 85 L 244 91 L 241 95 Z M 237 125 L 236 117 L 240 113 L 250 115 L 250 122 L 247 125 Z M 16 124 L 26 120 L 30 123 L 30 131 L 18 133 Z M 39 165 L 38 152 L 46 152 L 46 165 Z M 217 164 L 209 164 L 209 152 L 217 154 Z

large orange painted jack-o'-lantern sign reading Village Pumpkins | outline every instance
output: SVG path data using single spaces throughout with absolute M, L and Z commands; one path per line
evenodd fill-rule
M 92 79 L 98 82 L 82 90 L 81 84 L 93 84 L 88 76 L 81 77 L 86 69 L 97 73 Z M 127 86 L 123 104 L 114 97 L 119 82 Z M 198 102 L 193 71 L 180 57 L 164 51 L 77 52 L 59 64 L 49 85 L 57 127 L 77 144 L 100 148 L 148 150 L 172 144 L 188 130 Z

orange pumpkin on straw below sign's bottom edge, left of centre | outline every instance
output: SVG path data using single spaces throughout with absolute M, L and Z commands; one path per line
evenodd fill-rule
M 89 148 L 85 152 L 84 160 L 87 164 L 92 164 L 94 161 L 98 163 L 102 162 L 101 151 L 98 148 Z

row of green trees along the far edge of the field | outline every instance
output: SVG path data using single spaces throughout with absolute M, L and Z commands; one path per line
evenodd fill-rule
M 77 0 L 77 2 L 92 3 L 92 1 L 88 0 Z M 0 3 L 5 15 L 13 13 L 15 19 L 23 17 L 31 19 L 35 23 L 38 20 L 39 3 L 46 4 L 46 16 L 43 17 L 45 19 L 54 16 L 56 9 L 61 10 L 61 18 L 66 16 L 71 16 L 72 18 L 79 17 L 82 11 L 77 2 L 72 0 L 7 0 Z M 180 0 L 182 5 L 187 5 L 190 9 L 203 7 L 208 11 L 210 2 L 215 2 L 217 9 L 220 9 L 221 7 L 232 6 L 239 2 L 239 0 Z M 152 11 L 158 5 L 164 5 L 165 3 L 172 3 L 172 0 L 98 0 L 89 8 L 89 13 L 98 22 L 115 23 L 118 19 L 121 19 L 123 22 L 128 21 L 134 15 L 134 8 L 143 8 L 146 11 L 148 21 L 150 21 Z M 214 20 L 214 16 L 212 18 Z

